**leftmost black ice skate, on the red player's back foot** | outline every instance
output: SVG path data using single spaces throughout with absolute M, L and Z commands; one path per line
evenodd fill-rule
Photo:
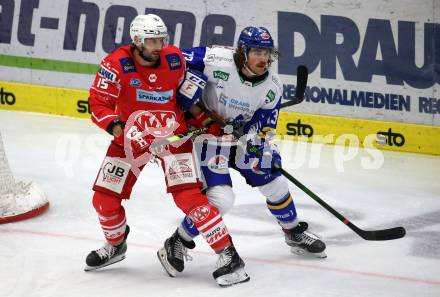
M 90 254 L 86 258 L 86 267 L 84 271 L 96 270 L 119 261 L 125 259 L 125 252 L 127 251 L 127 236 L 130 232 L 130 227 L 125 229 L 125 237 L 124 241 L 117 245 L 113 246 L 109 243 L 104 245 L 102 248 L 90 252 Z

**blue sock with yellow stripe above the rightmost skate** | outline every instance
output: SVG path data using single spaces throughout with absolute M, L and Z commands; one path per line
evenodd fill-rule
M 267 199 L 266 204 L 269 211 L 284 229 L 292 229 L 298 224 L 295 204 L 290 193 L 287 193 L 287 195 L 276 202 Z

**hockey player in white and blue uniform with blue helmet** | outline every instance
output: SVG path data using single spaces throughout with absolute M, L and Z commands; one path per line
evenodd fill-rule
M 276 128 L 283 88 L 278 75 L 270 68 L 278 52 L 268 30 L 246 27 L 239 36 L 236 49 L 196 47 L 182 52 L 188 71 L 206 81 L 202 98 L 191 94 L 191 86 L 187 88 L 188 93 L 181 92 L 177 96 L 181 106 L 193 115 L 193 124 L 210 124 L 209 132 L 216 136 L 224 133 L 220 125 L 213 123 L 197 106 L 203 104 L 230 127 L 246 135 L 246 141 L 241 139 L 231 143 L 231 137 L 223 136 L 215 138 L 215 141 L 205 141 L 202 149 L 199 148 L 199 161 L 210 203 L 222 214 L 232 208 L 235 194 L 229 168 L 233 168 L 266 198 L 267 208 L 281 226 L 293 253 L 325 257 L 325 244 L 307 231 L 306 222 L 298 220 L 287 180 L 273 169 L 274 163 L 281 164 L 281 156 L 272 144 L 271 135 Z M 185 217 L 165 241 L 158 257 L 169 275 L 175 276 L 183 271 L 187 248 L 194 247 L 192 239 L 198 234 L 191 219 Z M 219 285 L 227 286 L 249 279 L 243 270 L 244 262 L 234 246 L 220 253 L 218 265 L 227 267 L 222 273 L 214 275 Z

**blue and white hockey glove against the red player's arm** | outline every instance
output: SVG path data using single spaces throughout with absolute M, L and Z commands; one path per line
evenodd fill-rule
M 190 109 L 191 106 L 199 101 L 207 80 L 208 77 L 202 72 L 187 69 L 185 79 L 176 94 L 177 103 L 183 110 Z

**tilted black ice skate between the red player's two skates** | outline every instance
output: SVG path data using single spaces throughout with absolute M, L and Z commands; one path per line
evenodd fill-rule
M 169 276 L 175 277 L 177 272 L 185 268 L 185 260 L 190 260 L 188 249 L 196 246 L 194 241 L 185 241 L 176 230 L 165 240 L 163 248 L 157 251 L 157 257 Z

